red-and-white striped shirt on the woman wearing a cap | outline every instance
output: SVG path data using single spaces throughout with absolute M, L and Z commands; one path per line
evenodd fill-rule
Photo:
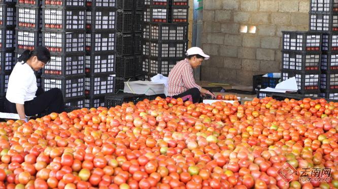
M 201 86 L 195 83 L 192 68 L 188 59 L 178 62 L 170 71 L 168 76 L 168 96 L 173 97 L 185 92 L 190 88 L 201 89 Z

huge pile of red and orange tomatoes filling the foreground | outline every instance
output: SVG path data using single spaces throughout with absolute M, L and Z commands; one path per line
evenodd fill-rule
M 0 188 L 338 187 L 338 103 L 144 100 L 0 123 Z M 329 182 L 278 170 L 331 168 Z

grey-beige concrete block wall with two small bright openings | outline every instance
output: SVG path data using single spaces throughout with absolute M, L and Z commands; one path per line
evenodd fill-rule
M 202 49 L 211 58 L 201 80 L 251 86 L 255 74 L 280 72 L 281 31 L 307 31 L 309 9 L 309 0 L 204 0 Z

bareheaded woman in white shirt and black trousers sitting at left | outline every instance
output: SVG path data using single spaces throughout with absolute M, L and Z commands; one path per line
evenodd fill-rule
M 23 52 L 9 77 L 5 112 L 17 113 L 20 119 L 27 122 L 26 116 L 41 114 L 45 110 L 48 114 L 61 113 L 64 110 L 63 96 L 59 88 L 46 92 L 38 90 L 34 71 L 42 69 L 49 61 L 50 53 L 44 46 Z

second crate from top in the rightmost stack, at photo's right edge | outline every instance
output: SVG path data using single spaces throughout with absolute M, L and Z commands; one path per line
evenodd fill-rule
M 338 31 L 338 14 L 310 12 L 309 23 L 310 31 Z

